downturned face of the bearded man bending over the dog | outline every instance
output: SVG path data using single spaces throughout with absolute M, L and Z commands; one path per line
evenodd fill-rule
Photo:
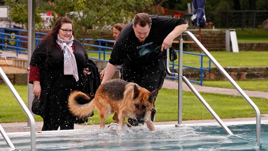
M 145 27 L 141 27 L 139 24 L 137 24 L 135 27 L 133 23 L 133 29 L 135 36 L 139 39 L 139 42 L 145 42 L 146 37 L 149 35 L 151 24 L 146 25 Z

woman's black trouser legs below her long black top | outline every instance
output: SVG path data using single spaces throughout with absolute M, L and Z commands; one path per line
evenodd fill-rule
M 44 117 L 44 124 L 42 131 L 56 131 L 59 127 L 60 130 L 73 130 L 74 120 L 64 120 L 63 122 L 57 122 L 49 118 Z

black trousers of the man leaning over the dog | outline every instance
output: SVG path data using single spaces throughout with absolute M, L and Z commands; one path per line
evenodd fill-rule
M 167 75 L 166 60 L 167 58 L 161 57 L 158 60 L 152 61 L 150 64 L 135 66 L 124 63 L 121 67 L 123 68 L 122 78 L 125 81 L 137 83 L 139 86 L 144 87 L 150 92 L 155 89 L 160 90 Z M 152 117 L 151 119 L 153 120 Z M 129 119 L 129 123 L 132 126 L 137 126 L 139 123 L 144 124 L 144 121 Z

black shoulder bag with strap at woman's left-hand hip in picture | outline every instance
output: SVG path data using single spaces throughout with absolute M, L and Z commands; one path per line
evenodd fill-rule
M 50 83 L 47 83 L 47 88 L 45 90 L 41 90 L 40 98 L 38 100 L 37 96 L 34 96 L 32 102 L 32 112 L 36 115 L 40 115 L 41 117 L 45 117 L 48 112 L 48 102 L 47 102 L 47 94 L 49 93 L 51 83 L 55 80 L 55 78 L 59 75 L 59 72 L 63 69 L 63 67 L 57 72 L 57 74 L 53 77 Z

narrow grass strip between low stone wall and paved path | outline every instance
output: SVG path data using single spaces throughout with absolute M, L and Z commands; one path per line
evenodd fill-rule
M 268 80 L 235 80 L 243 90 L 268 92 Z M 229 81 L 203 81 L 203 86 L 235 89 Z

